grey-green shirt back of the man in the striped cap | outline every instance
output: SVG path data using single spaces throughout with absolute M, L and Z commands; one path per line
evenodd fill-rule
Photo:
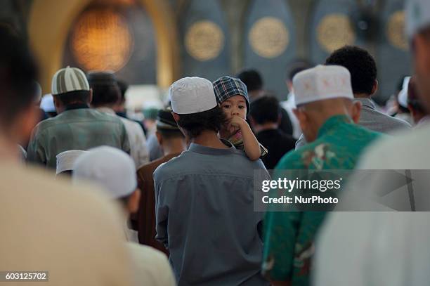
M 27 161 L 56 168 L 56 155 L 109 145 L 130 152 L 124 124 L 117 117 L 89 108 L 66 110 L 34 128 Z

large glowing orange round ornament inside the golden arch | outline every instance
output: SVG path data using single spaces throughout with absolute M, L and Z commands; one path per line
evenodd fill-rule
M 129 61 L 133 36 L 126 20 L 109 8 L 84 12 L 72 32 L 74 58 L 86 70 L 120 70 Z

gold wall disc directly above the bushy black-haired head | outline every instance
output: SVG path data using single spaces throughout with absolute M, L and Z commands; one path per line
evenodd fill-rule
M 356 41 L 356 34 L 348 17 L 343 14 L 328 14 L 317 27 L 317 39 L 327 53 Z

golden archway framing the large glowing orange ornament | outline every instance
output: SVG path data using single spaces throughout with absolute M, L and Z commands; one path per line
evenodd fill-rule
M 168 87 L 176 79 L 178 51 L 174 13 L 166 0 L 140 0 L 155 27 L 157 85 Z M 70 25 L 91 0 L 35 0 L 30 11 L 30 44 L 41 70 L 41 85 L 51 90 L 51 77 L 61 67 Z

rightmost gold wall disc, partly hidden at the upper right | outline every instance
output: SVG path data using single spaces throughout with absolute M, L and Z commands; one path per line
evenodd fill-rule
M 391 15 L 386 26 L 386 37 L 391 45 L 400 50 L 408 51 L 408 40 L 405 36 L 405 12 L 396 11 Z

